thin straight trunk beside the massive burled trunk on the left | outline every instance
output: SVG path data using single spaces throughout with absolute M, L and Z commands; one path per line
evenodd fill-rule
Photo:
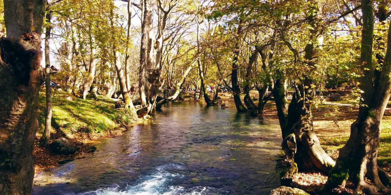
M 46 35 L 45 35 L 45 92 L 46 92 L 46 117 L 45 117 L 45 129 L 43 130 L 43 135 L 39 139 L 39 145 L 45 147 L 48 145 L 50 140 L 50 130 L 52 129 L 52 89 L 51 89 L 51 81 L 50 81 L 50 48 L 49 48 L 49 40 L 50 40 L 50 31 L 52 27 L 50 27 L 50 20 L 52 12 L 47 11 L 46 13 L 46 21 L 49 25 L 46 27 Z

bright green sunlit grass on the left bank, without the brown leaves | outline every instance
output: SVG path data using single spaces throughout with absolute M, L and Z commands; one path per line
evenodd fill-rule
M 115 109 L 115 102 L 98 96 L 97 99 L 81 99 L 74 96 L 72 101 L 66 97 L 70 94 L 57 92 L 52 97 L 53 115 L 52 127 L 62 131 L 65 135 L 72 135 L 77 132 L 104 133 L 117 128 L 118 123 L 124 121 L 124 109 Z M 39 92 L 38 122 L 39 131 L 43 133 L 45 124 L 45 92 Z

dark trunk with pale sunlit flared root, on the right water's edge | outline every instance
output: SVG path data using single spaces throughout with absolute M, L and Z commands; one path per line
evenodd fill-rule
M 310 6 L 313 12 L 310 12 L 310 16 L 308 16 L 308 24 L 312 27 L 310 40 L 313 40 L 319 36 L 318 26 L 321 20 L 317 17 L 321 13 L 321 9 L 317 0 L 314 0 Z M 300 57 L 299 52 L 285 39 L 283 33 L 281 33 L 281 37 L 284 44 L 292 51 L 295 59 L 298 59 Z M 309 41 L 305 46 L 304 64 L 301 64 L 299 60 L 295 60 L 298 66 L 305 65 L 308 71 L 302 73 L 302 78 L 297 83 L 294 83 L 294 94 L 288 109 L 286 109 L 286 79 L 282 72 L 280 72 L 279 78 L 276 79 L 273 95 L 277 97 L 275 99 L 283 138 L 289 138 L 287 136 L 292 133 L 296 138 L 294 161 L 297 163 L 299 170 L 304 171 L 317 168 L 322 172 L 328 173 L 335 162 L 322 149 L 312 124 L 311 106 L 314 96 L 314 85 L 311 77 L 316 70 L 317 53 L 314 41 Z

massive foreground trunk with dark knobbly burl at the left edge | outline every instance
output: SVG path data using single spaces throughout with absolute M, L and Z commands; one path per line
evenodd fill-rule
M 4 0 L 7 38 L 0 39 L 0 194 L 30 194 L 38 129 L 41 28 L 46 1 Z M 32 31 L 34 29 L 34 31 Z

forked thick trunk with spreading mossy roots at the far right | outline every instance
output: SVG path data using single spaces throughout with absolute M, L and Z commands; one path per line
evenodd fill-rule
M 360 89 L 364 91 L 359 115 L 350 127 L 350 137 L 339 152 L 335 167 L 330 171 L 323 190 L 344 187 L 350 177 L 355 193 L 373 194 L 386 190 L 390 179 L 378 168 L 377 153 L 380 141 L 380 123 L 391 92 L 391 26 L 388 30 L 387 53 L 380 71 L 372 64 L 373 2 L 362 0 L 362 38 L 360 65 L 363 77 Z M 390 23 L 391 24 L 391 23 Z M 378 74 L 375 74 L 378 73 Z M 368 177 L 371 184 L 364 178 Z

